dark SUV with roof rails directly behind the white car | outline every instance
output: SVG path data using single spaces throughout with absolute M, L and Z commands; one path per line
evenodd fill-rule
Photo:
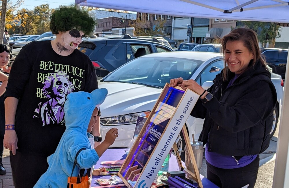
M 140 56 L 173 51 L 166 45 L 129 35 L 91 38 L 78 45 L 78 49 L 89 56 L 98 77 L 104 77 L 121 65 Z

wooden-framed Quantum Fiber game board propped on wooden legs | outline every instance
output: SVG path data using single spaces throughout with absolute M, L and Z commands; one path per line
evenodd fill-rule
M 180 87 L 164 86 L 155 106 L 153 107 L 147 121 L 122 165 L 118 176 L 129 188 L 150 187 L 157 176 L 166 156 L 175 145 L 175 141 L 183 130 L 185 142 L 190 145 L 190 140 L 184 126 L 190 112 L 196 104 L 199 95 Z M 184 127 L 184 128 L 183 128 Z M 176 148 L 174 149 L 176 150 Z M 202 182 L 197 168 L 197 163 L 191 147 L 188 154 L 194 172 L 184 168 L 184 172 L 193 177 L 199 187 Z M 179 154 L 177 157 L 180 160 Z M 179 163 L 181 169 L 182 165 Z

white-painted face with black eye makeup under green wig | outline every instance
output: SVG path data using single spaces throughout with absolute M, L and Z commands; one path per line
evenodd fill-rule
M 68 50 L 75 50 L 81 43 L 81 38 L 84 35 L 84 32 L 72 29 L 70 31 L 61 32 L 61 34 L 61 45 Z

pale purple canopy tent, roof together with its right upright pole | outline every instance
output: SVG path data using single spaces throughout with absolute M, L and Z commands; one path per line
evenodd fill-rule
M 289 23 L 289 2 L 281 0 L 75 0 L 75 4 L 173 16 Z M 279 116 L 274 188 L 289 187 L 289 100 L 285 100 L 289 95 L 288 69 Z

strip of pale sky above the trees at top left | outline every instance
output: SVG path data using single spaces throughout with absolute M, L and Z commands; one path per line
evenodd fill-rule
M 41 4 L 49 4 L 49 8 L 58 8 L 59 5 L 70 5 L 74 4 L 74 0 L 24 0 L 24 3 L 18 8 L 26 8 L 26 9 L 34 9 L 35 6 L 41 5 Z

